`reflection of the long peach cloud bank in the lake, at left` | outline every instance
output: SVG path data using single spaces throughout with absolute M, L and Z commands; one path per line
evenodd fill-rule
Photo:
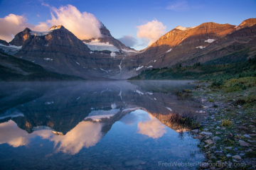
M 26 146 L 31 139 L 40 136 L 44 140 L 53 141 L 55 152 L 77 154 L 83 147 L 93 147 L 99 142 L 103 134 L 101 132 L 104 123 L 92 123 L 82 121 L 65 135 L 53 135 L 52 130 L 36 130 L 28 134 L 18 128 L 13 120 L 0 124 L 0 145 L 7 143 L 12 147 Z

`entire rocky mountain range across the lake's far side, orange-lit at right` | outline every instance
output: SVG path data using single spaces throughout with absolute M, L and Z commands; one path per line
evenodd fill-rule
M 85 79 L 128 79 L 144 69 L 208 63 L 227 56 L 252 57 L 256 54 L 255 24 L 256 18 L 250 18 L 239 26 L 213 22 L 178 26 L 142 52 L 125 47 L 103 24 L 102 38 L 90 40 L 79 40 L 63 26 L 43 32 L 26 28 L 10 43 L 1 41 L 0 49 L 50 72 Z

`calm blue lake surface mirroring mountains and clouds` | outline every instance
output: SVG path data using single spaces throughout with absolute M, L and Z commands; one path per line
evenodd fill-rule
M 188 82 L 0 83 L 0 169 L 189 169 L 159 166 L 203 161 L 170 121 L 200 110 Z

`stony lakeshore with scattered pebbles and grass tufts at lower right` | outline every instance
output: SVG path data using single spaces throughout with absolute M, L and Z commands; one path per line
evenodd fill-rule
M 194 84 L 192 95 L 202 102 L 203 113 L 206 112 L 201 128 L 191 130 L 193 138 L 200 140 L 198 147 L 207 160 L 201 168 L 253 169 L 256 165 L 255 106 L 239 102 L 255 96 L 255 87 L 224 93 L 210 88 L 206 81 Z

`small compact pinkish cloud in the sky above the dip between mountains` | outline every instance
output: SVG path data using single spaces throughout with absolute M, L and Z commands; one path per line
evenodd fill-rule
M 149 45 L 166 33 L 166 26 L 156 19 L 149 21 L 142 26 L 137 26 L 137 28 L 137 37 L 148 40 Z

